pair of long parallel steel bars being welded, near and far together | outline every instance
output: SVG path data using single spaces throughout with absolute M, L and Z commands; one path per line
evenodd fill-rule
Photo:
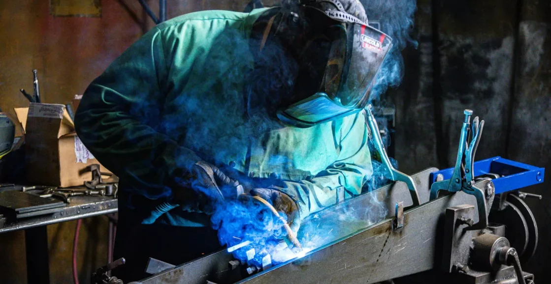
M 414 175 L 413 178 L 415 180 L 415 177 L 418 177 L 423 180 L 423 175 L 428 177 L 434 170 L 436 169 Z M 424 186 L 428 191 L 428 183 L 425 182 Z M 322 220 L 335 220 L 336 216 L 341 215 L 339 211 L 348 210 L 350 214 L 355 214 L 354 216 L 363 216 L 362 214 L 368 211 L 366 206 L 372 205 L 377 198 L 385 204 L 390 203 L 390 206 L 387 205 L 385 220 L 360 230 L 356 230 L 356 224 L 351 221 L 355 218 L 339 220 L 343 222 L 343 226 L 336 235 L 339 237 L 337 240 L 329 241 L 311 250 L 304 257 L 291 259 L 260 271 L 247 279 L 244 279 L 247 277 L 246 271 L 242 272 L 240 268 L 234 270 L 228 268 L 228 262 L 233 259 L 231 254 L 223 250 L 151 276 L 142 280 L 142 283 L 204 283 L 207 280 L 218 284 L 234 282 L 373 283 L 434 269 L 435 265 L 439 265 L 435 259 L 439 258 L 436 255 L 440 255 L 437 248 L 439 246 L 436 244 L 442 237 L 439 225 L 442 214 L 450 206 L 476 204 L 476 200 L 471 195 L 458 192 L 419 207 L 404 210 L 403 229 L 393 232 L 394 205 L 397 198 L 404 197 L 409 197 L 409 190 L 404 183 L 397 182 L 393 186 L 382 187 L 348 199 L 346 202 L 321 211 L 316 214 L 317 216 L 311 216 L 305 220 L 304 226 L 317 226 L 322 224 L 320 222 Z M 404 206 L 407 202 L 404 202 Z M 350 210 L 351 208 L 356 210 Z M 363 208 L 366 210 L 360 210 Z M 476 215 L 473 219 L 478 221 Z M 352 228 L 348 229 L 348 227 Z M 241 274 L 235 276 L 235 271 Z M 185 280 L 182 275 L 186 275 Z M 239 277 L 243 278 L 239 279 Z

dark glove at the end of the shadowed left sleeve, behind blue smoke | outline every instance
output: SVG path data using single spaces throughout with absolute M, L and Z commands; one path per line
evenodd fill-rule
M 172 203 L 180 204 L 183 210 L 212 214 L 216 205 L 226 197 L 235 195 L 237 181 L 230 179 L 216 166 L 199 161 L 190 173 L 176 179 L 172 188 Z M 191 189 L 191 190 L 190 190 Z

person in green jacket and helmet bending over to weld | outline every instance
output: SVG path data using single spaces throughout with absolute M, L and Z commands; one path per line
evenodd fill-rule
M 391 40 L 358 0 L 182 15 L 85 91 L 78 135 L 120 177 L 115 271 L 220 248 L 209 214 L 236 186 L 300 220 L 372 174 L 363 108 Z

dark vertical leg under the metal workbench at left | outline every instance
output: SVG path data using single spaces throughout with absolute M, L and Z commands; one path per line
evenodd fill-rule
M 50 283 L 47 226 L 25 230 L 27 283 Z

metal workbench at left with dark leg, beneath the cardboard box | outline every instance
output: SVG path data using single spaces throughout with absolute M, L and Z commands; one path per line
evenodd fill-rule
M 84 187 L 83 187 L 84 188 Z M 1 187 L 0 191 L 21 190 L 21 186 Z M 49 283 L 48 236 L 46 226 L 66 221 L 117 212 L 117 199 L 111 196 L 74 196 L 62 211 L 23 218 L 8 219 L 0 214 L 0 233 L 25 230 L 28 283 Z

